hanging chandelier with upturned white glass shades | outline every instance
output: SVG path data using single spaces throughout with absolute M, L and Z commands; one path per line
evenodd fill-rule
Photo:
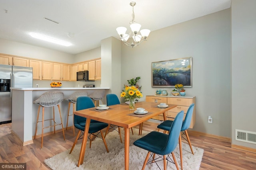
M 131 43 L 127 42 L 127 40 L 130 38 L 131 32 L 129 34 L 126 34 L 126 30 L 127 30 L 126 27 L 116 28 L 116 31 L 120 36 L 120 39 L 124 42 L 124 44 L 132 47 L 139 45 L 140 43 L 142 43 L 142 41 L 145 41 L 150 33 L 149 29 L 140 30 L 141 25 L 139 23 L 136 23 L 136 21 L 134 21 L 135 15 L 134 15 L 133 8 L 135 5 L 136 5 L 136 2 L 130 2 L 130 6 L 132 6 L 132 21 L 130 21 L 130 28 L 131 28 L 131 32 L 133 33 L 132 35 L 133 41 Z M 138 34 L 139 31 L 140 31 L 140 34 Z

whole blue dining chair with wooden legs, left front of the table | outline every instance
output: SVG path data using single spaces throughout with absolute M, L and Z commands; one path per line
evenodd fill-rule
M 76 110 L 88 109 L 88 108 L 92 108 L 92 107 L 95 107 L 95 105 L 92 102 L 92 99 L 89 98 L 88 96 L 82 96 L 82 97 L 77 98 L 77 100 L 76 100 Z M 82 135 L 84 134 L 85 123 L 86 123 L 86 118 L 85 117 L 78 116 L 78 115 L 74 114 L 74 127 L 79 129 L 79 132 L 76 136 L 76 140 L 74 141 L 74 144 L 73 144 L 73 146 L 70 150 L 70 153 L 74 149 L 78 139 L 82 139 Z M 88 131 L 88 134 L 90 134 L 88 136 L 88 139 L 90 140 L 90 148 L 91 148 L 91 145 L 92 145 L 92 141 L 97 137 L 97 135 L 99 133 L 101 133 L 102 139 L 104 141 L 104 145 L 105 145 L 106 150 L 108 152 L 108 146 L 107 146 L 107 143 L 105 141 L 105 137 L 104 137 L 103 132 L 102 132 L 102 129 L 104 129 L 106 127 L 108 127 L 108 123 L 103 123 L 103 122 L 91 119 L 89 131 Z M 107 128 L 106 131 L 108 131 L 108 128 Z M 81 132 L 82 132 L 82 135 L 80 135 Z

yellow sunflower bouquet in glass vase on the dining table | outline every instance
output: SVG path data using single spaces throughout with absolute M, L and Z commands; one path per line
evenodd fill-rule
M 125 100 L 129 101 L 129 109 L 134 109 L 136 98 L 143 97 L 142 93 L 136 86 L 125 86 L 123 92 L 120 94 L 120 97 L 124 97 Z

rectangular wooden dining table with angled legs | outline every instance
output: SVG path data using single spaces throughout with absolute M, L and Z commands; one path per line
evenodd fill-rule
M 135 115 L 129 115 L 134 113 L 135 110 L 130 110 L 128 104 L 117 104 L 108 106 L 109 109 L 104 111 L 96 111 L 93 108 L 83 109 L 79 111 L 75 111 L 74 114 L 86 117 L 86 124 L 84 129 L 84 138 L 81 145 L 81 151 L 78 158 L 77 166 L 83 164 L 84 154 L 86 151 L 86 142 L 88 136 L 88 130 L 90 126 L 90 120 L 97 120 L 104 123 L 124 127 L 124 166 L 125 170 L 129 169 L 129 140 L 130 140 L 130 128 L 140 123 L 147 121 L 148 119 L 163 114 L 164 120 L 166 120 L 166 111 L 176 107 L 174 104 L 168 104 L 167 108 L 157 107 L 159 103 L 154 102 L 137 102 L 135 108 L 143 107 L 147 114 L 143 115 L 143 117 L 136 117 Z M 142 116 L 142 115 L 140 115 Z

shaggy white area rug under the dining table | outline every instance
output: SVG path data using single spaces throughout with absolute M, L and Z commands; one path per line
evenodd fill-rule
M 130 134 L 130 153 L 129 153 L 129 169 L 141 170 L 144 160 L 146 158 L 147 150 L 141 149 L 133 145 L 133 142 L 141 138 L 138 136 L 138 129 L 133 129 L 134 135 Z M 122 133 L 124 133 L 122 131 Z M 148 132 L 143 131 L 142 136 Z M 81 139 L 80 139 L 81 140 Z M 124 134 L 122 134 L 122 140 L 124 142 Z M 108 145 L 109 152 L 106 152 L 105 145 L 102 139 L 97 138 L 92 141 L 92 147 L 89 148 L 89 143 L 86 145 L 86 152 L 84 156 L 84 162 L 77 167 L 78 158 L 80 154 L 81 144 L 76 145 L 72 154 L 69 154 L 70 149 L 44 160 L 44 163 L 52 170 L 124 170 L 124 144 L 120 142 L 118 132 L 113 131 L 106 136 L 106 143 Z M 194 155 L 191 153 L 190 147 L 186 143 L 182 143 L 183 154 L 183 169 L 184 170 L 199 170 L 204 153 L 203 149 L 193 147 Z M 176 160 L 180 168 L 180 150 L 177 145 L 174 150 Z M 172 158 L 172 156 L 170 155 Z M 159 161 L 158 165 L 163 169 L 163 161 Z M 157 165 L 146 165 L 147 170 L 157 170 Z M 175 164 L 168 162 L 168 168 L 176 170 Z

